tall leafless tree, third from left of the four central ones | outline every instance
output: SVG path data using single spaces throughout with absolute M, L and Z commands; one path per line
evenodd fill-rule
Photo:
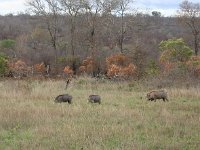
M 116 9 L 116 0 L 85 0 L 84 8 L 86 20 L 89 28 L 89 43 L 92 56 L 96 55 L 98 28 L 103 29 L 108 16 L 112 16 L 112 11 Z

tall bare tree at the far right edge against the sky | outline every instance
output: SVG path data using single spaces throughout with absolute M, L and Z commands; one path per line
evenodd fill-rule
M 178 10 L 178 17 L 180 22 L 187 25 L 191 30 L 194 37 L 195 55 L 198 55 L 200 42 L 200 3 L 183 1 Z

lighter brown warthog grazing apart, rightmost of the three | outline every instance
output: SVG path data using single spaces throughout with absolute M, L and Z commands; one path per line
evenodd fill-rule
M 165 90 L 151 91 L 147 93 L 147 99 L 151 101 L 156 101 L 156 99 L 163 99 L 168 101 L 167 92 Z

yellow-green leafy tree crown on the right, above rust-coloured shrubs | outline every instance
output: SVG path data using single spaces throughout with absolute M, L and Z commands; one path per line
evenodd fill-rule
M 162 41 L 159 46 L 162 51 L 161 61 L 186 62 L 193 53 L 181 38 Z

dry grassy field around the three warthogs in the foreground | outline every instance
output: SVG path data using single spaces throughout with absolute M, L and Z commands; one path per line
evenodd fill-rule
M 200 88 L 149 102 L 137 82 L 0 81 L 0 150 L 199 150 Z M 55 104 L 69 93 L 73 104 Z M 99 94 L 102 104 L 90 104 Z

